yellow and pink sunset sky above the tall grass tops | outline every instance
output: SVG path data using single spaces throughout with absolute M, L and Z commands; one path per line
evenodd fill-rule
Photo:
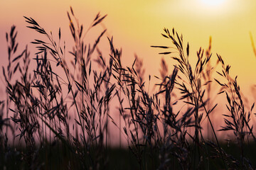
M 107 14 L 98 26 L 101 31 L 107 28 L 107 35 L 114 36 L 116 47 L 122 47 L 127 64 L 134 60 L 136 53 L 144 61 L 146 74 L 159 75 L 161 55 L 159 49 L 150 45 L 171 45 L 161 33 L 163 28 L 175 28 L 183 34 L 184 42 L 191 46 L 191 60 L 196 57 L 199 47 L 208 47 L 209 37 L 213 40 L 213 60 L 218 52 L 226 64 L 230 64 L 231 74 L 238 75 L 238 83 L 245 94 L 256 84 L 256 57 L 252 51 L 250 32 L 256 41 L 256 1 L 255 0 L 108 0 L 108 1 L 32 1 L 12 0 L 0 2 L 0 52 L 1 66 L 6 65 L 7 50 L 5 33 L 12 25 L 17 26 L 18 42 L 21 47 L 40 39 L 41 35 L 26 28 L 23 16 L 34 18 L 46 30 L 53 31 L 58 38 L 58 28 L 63 31 L 63 40 L 68 50 L 72 49 L 68 17 L 66 12 L 73 6 L 75 15 L 85 28 L 96 14 Z M 90 37 L 88 35 L 88 40 Z M 107 42 L 107 38 L 103 40 Z M 33 45 L 28 45 L 33 53 Z M 108 54 L 109 47 L 102 45 Z M 33 54 L 31 54 L 33 57 Z M 169 66 L 172 60 L 164 56 Z

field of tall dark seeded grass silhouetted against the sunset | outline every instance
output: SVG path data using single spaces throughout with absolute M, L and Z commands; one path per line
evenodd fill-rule
M 24 17 L 28 28 L 43 37 L 31 42 L 36 55 L 27 47 L 18 53 L 15 26 L 6 33 L 9 64 L 1 75 L 6 100 L 0 102 L 0 169 L 255 169 L 254 104 L 245 107 L 237 78 L 230 76 L 230 65 L 220 55 L 216 65 L 210 64 L 215 55 L 211 43 L 191 54 L 181 34 L 164 28 L 162 35 L 170 44 L 151 47 L 170 56 L 174 69 L 170 72 L 162 60 L 161 77 L 146 79 L 139 58 L 131 66 L 122 62 L 114 38 L 108 38 L 109 57 L 102 57 L 97 45 L 106 30 L 94 44 L 84 42 L 85 33 L 105 17 L 99 13 L 85 30 L 70 8 L 70 52 L 60 29 L 55 40 L 33 18 Z M 67 55 L 73 57 L 71 63 L 65 61 Z M 191 57 L 196 57 L 195 65 Z M 154 93 L 145 86 L 151 79 L 158 82 Z M 218 94 L 213 94 L 213 81 L 219 84 Z M 217 129 L 210 115 L 218 101 L 211 101 L 211 95 L 225 96 L 228 110 L 222 115 L 225 125 Z M 112 117 L 114 109 L 119 118 Z M 203 132 L 206 123 L 210 135 Z M 217 131 L 232 137 L 225 141 Z M 112 146 L 112 133 L 124 136 L 127 147 Z

